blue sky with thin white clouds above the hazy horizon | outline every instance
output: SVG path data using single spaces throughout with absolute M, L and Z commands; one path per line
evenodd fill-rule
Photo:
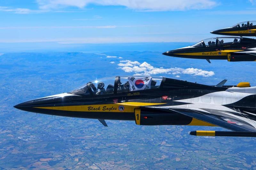
M 0 0 L 0 43 L 197 42 L 255 14 L 256 0 Z

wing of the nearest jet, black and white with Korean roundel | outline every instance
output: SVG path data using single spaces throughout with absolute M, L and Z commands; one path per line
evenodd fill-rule
M 215 109 L 193 109 L 187 107 L 169 108 L 173 112 L 187 115 L 198 120 L 208 122 L 225 129 L 233 131 L 256 132 L 256 123 L 246 118 L 243 113 L 215 110 Z

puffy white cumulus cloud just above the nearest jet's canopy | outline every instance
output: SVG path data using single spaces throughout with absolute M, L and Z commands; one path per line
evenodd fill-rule
M 173 74 L 176 75 L 176 77 L 180 77 L 179 74 L 189 74 L 203 77 L 210 77 L 214 75 L 213 71 L 206 71 L 197 68 L 157 68 L 147 62 L 140 63 L 138 61 L 131 60 L 122 60 L 117 65 L 119 66 L 119 69 L 122 69 L 127 73 L 134 72 L 135 75 Z

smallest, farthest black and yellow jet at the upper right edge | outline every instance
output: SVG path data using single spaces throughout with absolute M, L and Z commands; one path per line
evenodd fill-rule
M 256 36 L 256 21 L 244 21 L 234 26 L 212 31 L 213 34 L 228 36 Z

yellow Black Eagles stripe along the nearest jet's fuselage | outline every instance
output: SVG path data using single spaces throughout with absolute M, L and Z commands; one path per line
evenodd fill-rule
M 100 105 L 78 105 L 78 106 L 52 106 L 52 107 L 34 107 L 49 110 L 75 111 L 75 112 L 134 112 L 135 108 L 140 106 L 152 106 L 166 103 L 142 103 L 142 102 L 124 102 L 114 104 Z M 120 107 L 123 106 L 123 107 Z M 124 110 L 122 109 L 124 108 Z

